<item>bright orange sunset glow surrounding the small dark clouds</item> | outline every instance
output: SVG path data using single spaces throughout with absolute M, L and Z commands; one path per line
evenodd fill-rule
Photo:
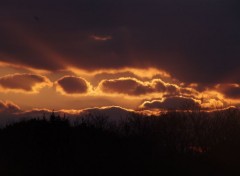
M 23 89 L 5 88 L 0 85 L 0 100 L 10 100 L 12 102 L 17 101 L 17 104 L 20 107 L 22 107 L 21 102 L 24 102 L 21 101 L 24 99 L 24 96 L 20 94 L 28 94 L 28 96 L 26 96 L 29 104 L 32 102 L 33 104 L 37 105 L 37 107 L 33 106 L 33 108 L 44 107 L 44 98 L 40 98 L 40 96 L 52 96 L 58 100 L 56 103 L 56 107 L 58 107 L 58 109 L 71 107 L 71 105 L 74 105 L 74 101 L 80 101 L 83 99 L 85 102 L 88 102 L 85 106 L 84 104 L 81 104 L 81 108 L 83 109 L 96 106 L 101 107 L 101 105 L 103 107 L 121 105 L 123 108 L 133 108 L 136 112 L 141 112 L 146 115 L 157 115 L 160 112 L 163 112 L 163 110 L 139 110 L 139 106 L 142 104 L 142 102 L 152 102 L 154 100 L 166 99 L 166 97 L 171 96 L 191 98 L 198 102 L 201 108 L 204 110 L 222 109 L 231 105 L 235 106 L 240 104 L 239 99 L 229 98 L 224 94 L 225 89 L 228 87 L 238 88 L 240 87 L 239 84 L 217 84 L 212 88 L 208 88 L 201 92 L 196 90 L 199 86 L 201 86 L 198 83 L 182 83 L 174 79 L 169 73 L 156 68 L 142 69 L 125 67 L 120 69 L 98 69 L 91 71 L 66 65 L 66 69 L 63 69 L 62 72 L 60 71 L 60 73 L 64 74 L 64 76 L 60 76 L 60 78 L 59 76 L 56 76 L 56 79 L 53 78 L 57 72 L 35 69 L 21 64 L 0 62 L 0 68 L 4 68 L 4 70 L 0 70 L 0 78 L 1 76 L 9 77 L 9 73 L 14 72 L 17 72 L 18 74 L 36 74 L 39 76 L 43 75 L 41 77 L 44 81 L 32 84 L 30 86 L 31 90 L 29 91 Z M 126 72 L 131 73 L 129 74 L 131 76 L 121 77 L 121 75 L 124 75 Z M 102 75 L 98 77 L 98 79 L 100 78 L 99 80 L 96 80 L 95 77 L 99 74 Z M 114 78 L 104 78 L 104 76 L 106 76 L 105 74 L 112 74 L 116 76 L 112 76 Z M 73 77 L 80 77 L 83 79 L 87 84 L 87 92 L 71 94 L 64 91 L 63 88 L 59 86 L 57 81 L 61 78 L 68 77 L 68 75 L 73 75 Z M 49 80 L 49 76 L 52 76 L 52 81 Z M 138 89 L 132 90 L 130 88 L 124 87 L 121 88 L 121 91 L 118 91 L 117 88 L 120 88 L 118 86 L 111 91 L 106 91 L 106 89 L 103 89 L 103 83 L 106 81 L 117 82 L 127 80 L 132 80 L 135 82 L 137 88 L 141 88 L 141 91 L 143 92 L 141 93 L 140 91 L 139 93 Z M 128 84 L 126 84 L 126 86 L 128 86 Z M 33 96 L 36 94 L 39 94 L 38 101 L 36 101 Z M 70 104 L 68 104 L 69 102 Z M 27 107 L 29 108 L 30 105 Z M 75 105 L 75 107 L 77 107 L 77 105 Z M 46 106 L 46 108 L 48 107 Z M 64 111 L 67 112 L 67 110 L 68 109 L 65 109 Z M 79 110 L 69 110 L 69 114 L 75 114 L 79 112 Z

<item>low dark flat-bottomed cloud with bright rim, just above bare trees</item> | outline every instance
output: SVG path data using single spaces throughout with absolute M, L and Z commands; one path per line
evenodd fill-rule
M 200 102 L 192 98 L 168 97 L 162 100 L 145 101 L 140 108 L 163 110 L 191 110 L 199 109 Z

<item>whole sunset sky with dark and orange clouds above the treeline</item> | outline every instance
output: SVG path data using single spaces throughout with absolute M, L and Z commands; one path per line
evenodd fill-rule
M 240 107 L 238 0 L 0 2 L 0 112 Z

